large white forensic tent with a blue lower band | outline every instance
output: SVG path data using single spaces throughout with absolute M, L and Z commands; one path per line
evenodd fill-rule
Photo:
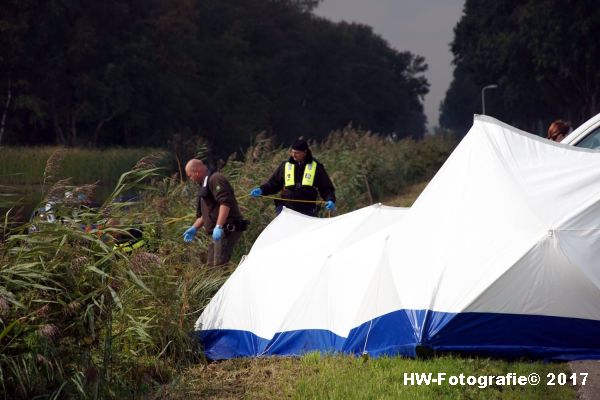
M 410 209 L 284 210 L 196 333 L 211 359 L 600 358 L 600 152 L 476 116 Z

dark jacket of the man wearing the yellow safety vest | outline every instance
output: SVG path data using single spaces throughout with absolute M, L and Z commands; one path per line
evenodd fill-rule
M 317 170 L 315 172 L 315 181 L 313 186 L 301 186 L 302 175 L 304 174 L 304 167 L 313 161 L 317 162 Z M 275 170 L 271 178 L 260 188 L 263 194 L 266 196 L 273 195 L 281 191 L 281 197 L 283 199 L 294 199 L 294 200 L 317 200 L 317 194 L 320 194 L 323 200 L 335 201 L 335 188 L 325 167 L 323 164 L 313 158 L 310 151 L 307 152 L 306 158 L 302 165 L 299 165 L 292 157 L 287 161 L 294 164 L 294 188 L 284 188 L 284 170 L 285 161 L 282 162 L 279 167 Z M 292 210 L 298 211 L 306 215 L 316 215 L 318 208 L 315 203 L 301 203 L 301 202 L 287 202 L 281 200 L 275 200 L 276 206 L 286 206 Z

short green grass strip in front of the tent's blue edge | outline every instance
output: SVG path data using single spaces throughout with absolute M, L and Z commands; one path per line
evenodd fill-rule
M 362 358 L 310 353 L 300 358 L 238 359 L 191 368 L 186 389 L 173 398 L 246 399 L 575 399 L 573 386 L 405 385 L 405 373 L 465 376 L 528 376 L 570 373 L 567 364 L 508 362 L 442 356 L 431 359 Z M 460 378 L 459 378 L 460 379 Z M 544 381 L 542 381 L 544 382 Z M 483 386 L 483 385 L 481 385 Z

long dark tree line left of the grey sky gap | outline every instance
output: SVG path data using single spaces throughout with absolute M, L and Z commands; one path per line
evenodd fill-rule
M 6 0 L 0 144 L 164 146 L 221 153 L 349 123 L 425 132 L 427 69 L 319 0 Z

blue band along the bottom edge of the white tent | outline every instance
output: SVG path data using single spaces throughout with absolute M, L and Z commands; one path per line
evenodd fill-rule
M 241 330 L 199 331 L 211 359 L 301 355 L 311 351 L 415 357 L 417 348 L 491 357 L 600 359 L 600 321 L 499 313 L 399 310 L 352 329 L 279 332 L 271 340 Z

